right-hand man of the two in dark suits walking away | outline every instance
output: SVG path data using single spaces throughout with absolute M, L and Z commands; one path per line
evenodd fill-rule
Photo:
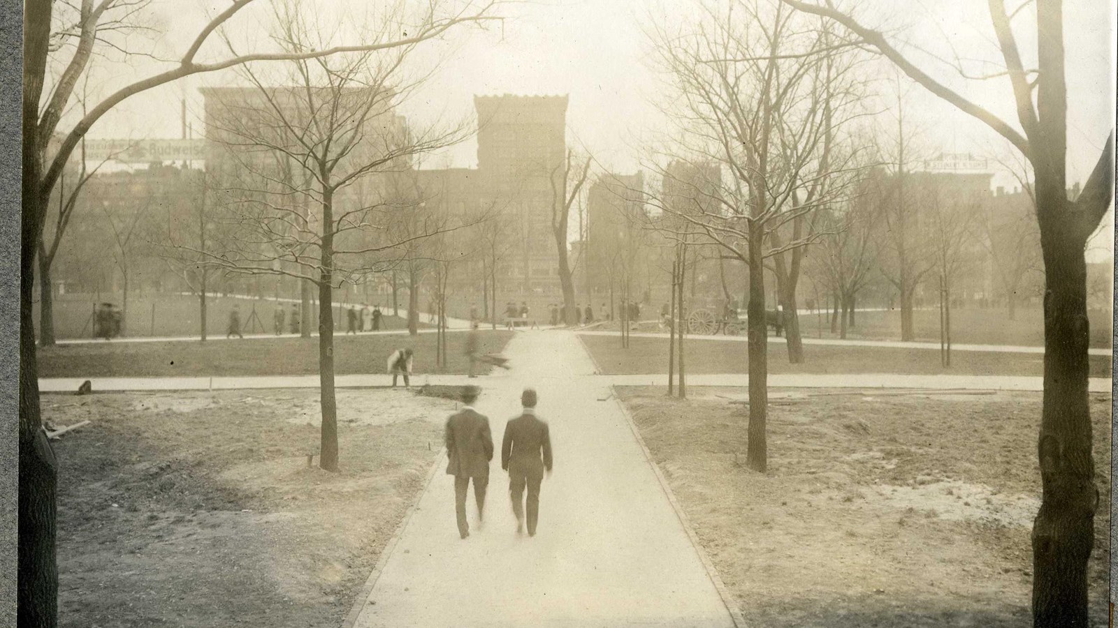
M 528 535 L 536 536 L 540 514 L 540 483 L 543 470 L 551 474 L 551 435 L 548 424 L 536 417 L 536 390 L 525 388 L 520 396 L 523 412 L 504 426 L 501 445 L 501 468 L 509 472 L 512 512 L 517 515 L 517 533 L 523 531 L 524 488 L 528 488 Z

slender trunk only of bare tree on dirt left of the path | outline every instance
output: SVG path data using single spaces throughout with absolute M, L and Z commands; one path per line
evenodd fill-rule
M 334 397 L 333 194 L 322 192 L 322 273 L 319 277 L 319 390 L 322 430 L 319 467 L 338 470 L 338 402 Z M 305 282 L 304 282 L 305 284 Z

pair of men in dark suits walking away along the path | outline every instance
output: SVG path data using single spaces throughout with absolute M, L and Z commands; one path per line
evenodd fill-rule
M 446 420 L 446 474 L 454 476 L 454 512 L 458 535 L 470 536 L 466 518 L 466 492 L 474 485 L 477 505 L 477 527 L 485 515 L 485 492 L 489 487 L 490 462 L 493 459 L 493 436 L 489 417 L 473 408 L 480 391 L 466 386 L 461 391 L 463 408 Z M 517 534 L 536 536 L 540 513 L 540 485 L 543 475 L 551 475 L 551 432 L 548 424 L 536 416 L 536 390 L 525 388 L 520 396 L 521 412 L 504 427 L 501 444 L 501 468 L 509 473 L 509 496 L 517 516 Z M 525 498 L 527 489 L 527 498 Z M 527 511 L 527 512 L 525 512 Z M 525 516 L 527 515 L 527 516 Z

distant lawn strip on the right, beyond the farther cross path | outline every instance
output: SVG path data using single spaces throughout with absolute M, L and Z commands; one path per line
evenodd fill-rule
M 1090 310 L 1087 315 L 1090 322 L 1091 346 L 1109 349 L 1114 312 L 1111 310 Z M 818 337 L 819 322 L 821 317 L 816 314 L 800 315 L 799 329 L 804 336 Z M 900 340 L 901 337 L 901 313 L 899 310 L 856 312 L 854 322 L 856 326 L 847 331 L 846 337 L 869 340 Z M 822 323 L 823 337 L 839 337 L 837 333 L 831 333 L 826 314 L 822 316 Z M 939 342 L 938 308 L 913 311 L 912 323 L 916 340 Z M 1017 310 L 1014 320 L 1011 321 L 1008 311 L 1004 308 L 955 308 L 951 310 L 951 342 L 1043 346 L 1044 312 L 1039 307 Z

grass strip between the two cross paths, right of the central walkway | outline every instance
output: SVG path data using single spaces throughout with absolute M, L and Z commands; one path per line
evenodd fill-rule
M 631 337 L 627 350 L 617 336 L 581 335 L 594 361 L 605 374 L 666 373 L 667 339 Z M 746 343 L 688 336 L 684 362 L 689 373 L 749 372 Z M 1110 377 L 1110 358 L 1091 355 L 1091 377 Z M 951 368 L 939 364 L 939 351 L 926 349 L 885 349 L 877 346 L 833 346 L 805 344 L 804 363 L 789 364 L 784 343 L 769 343 L 770 373 L 906 373 L 973 375 L 1042 375 L 1040 353 L 999 353 L 953 351 Z

